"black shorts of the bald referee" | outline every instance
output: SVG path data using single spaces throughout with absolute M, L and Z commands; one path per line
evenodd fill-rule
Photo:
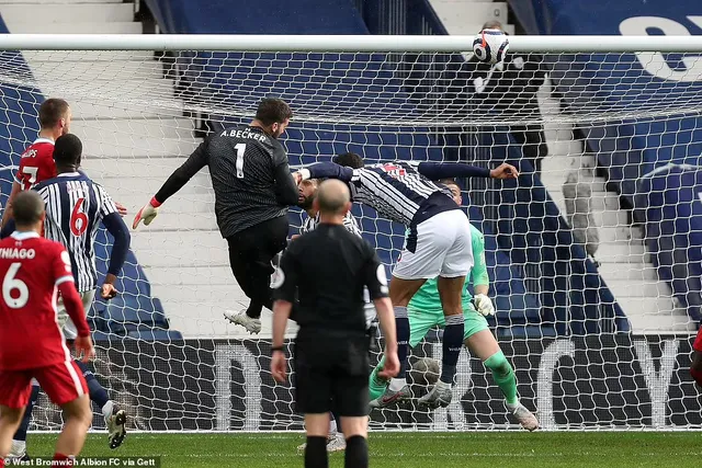
M 298 413 L 369 414 L 369 338 L 365 333 L 301 330 L 295 340 Z

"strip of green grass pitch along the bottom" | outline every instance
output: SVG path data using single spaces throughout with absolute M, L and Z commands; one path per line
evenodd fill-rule
M 700 467 L 699 432 L 372 433 L 373 468 Z M 30 454 L 53 454 L 56 435 L 30 434 Z M 81 456 L 160 456 L 162 468 L 303 467 L 294 434 L 131 434 L 110 450 L 91 434 Z M 343 453 L 330 468 L 343 467 Z

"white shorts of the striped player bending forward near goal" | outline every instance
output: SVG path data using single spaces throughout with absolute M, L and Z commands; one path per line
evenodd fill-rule
M 473 267 L 471 222 L 461 209 L 439 213 L 417 226 L 417 242 L 409 237 L 393 270 L 400 279 L 465 277 Z M 414 249 L 414 252 L 411 250 Z

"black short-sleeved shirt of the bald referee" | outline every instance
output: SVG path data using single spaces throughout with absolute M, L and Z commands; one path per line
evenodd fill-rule
M 297 292 L 299 333 L 364 334 L 364 286 L 371 299 L 387 297 L 385 266 L 375 250 L 343 225 L 320 224 L 292 241 L 283 253 L 273 297 L 294 303 Z

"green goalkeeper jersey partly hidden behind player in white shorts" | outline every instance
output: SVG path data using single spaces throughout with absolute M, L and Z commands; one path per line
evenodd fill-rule
M 466 277 L 463 286 L 463 310 L 473 308 L 471 300 L 473 296 L 468 292 L 468 284 L 473 286 L 486 286 L 490 284 L 487 275 L 487 264 L 485 263 L 485 239 L 483 232 L 475 226 L 471 225 L 471 243 L 473 244 L 474 265 L 471 270 L 469 277 Z M 427 283 L 412 296 L 408 309 L 421 312 L 441 312 L 441 299 L 439 298 L 439 289 L 437 288 L 437 278 L 428 279 Z

